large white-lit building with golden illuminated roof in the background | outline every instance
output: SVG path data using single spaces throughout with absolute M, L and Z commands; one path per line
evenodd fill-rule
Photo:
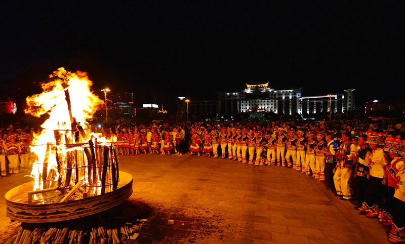
M 240 92 L 218 92 L 219 114 L 263 113 L 312 114 L 324 111 L 345 112 L 354 110 L 354 89 L 343 94 L 303 97 L 301 88 L 275 90 L 268 83 L 246 84 Z

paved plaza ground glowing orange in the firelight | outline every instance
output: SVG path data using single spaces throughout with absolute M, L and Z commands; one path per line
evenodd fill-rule
M 388 243 L 389 227 L 292 169 L 188 154 L 120 156 L 119 163 L 134 177 L 126 211 L 149 219 L 136 243 Z M 29 180 L 0 179 L 0 193 Z M 0 225 L 2 236 L 13 231 L 7 218 Z

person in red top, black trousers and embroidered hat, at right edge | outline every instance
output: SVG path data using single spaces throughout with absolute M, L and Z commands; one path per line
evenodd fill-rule
M 403 151 L 405 141 L 394 138 L 386 138 L 384 151 L 388 152 L 389 157 L 392 159 L 389 166 L 385 169 L 385 177 L 382 180 L 383 185 L 388 186 L 388 194 L 384 202 L 384 209 L 380 211 L 378 218 L 384 225 L 391 226 L 392 213 L 395 206 L 398 204 L 398 199 L 394 197 L 396 184 L 396 175 L 399 171 L 405 169 L 405 159 L 403 158 Z

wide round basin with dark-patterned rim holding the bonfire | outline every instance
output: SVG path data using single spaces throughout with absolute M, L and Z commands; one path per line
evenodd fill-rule
M 132 175 L 120 171 L 118 188 L 105 194 L 53 204 L 28 204 L 13 201 L 16 197 L 33 189 L 34 181 L 31 181 L 6 193 L 7 216 L 20 222 L 42 223 L 96 214 L 127 200 L 132 194 L 132 181 Z

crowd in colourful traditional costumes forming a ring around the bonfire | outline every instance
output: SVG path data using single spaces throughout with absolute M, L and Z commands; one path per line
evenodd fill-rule
M 101 133 L 121 155 L 214 157 L 291 168 L 325 181 L 341 200 L 391 226 L 388 240 L 405 242 L 405 124 L 352 120 L 118 124 Z M 0 128 L 2 176 L 27 171 L 33 129 Z M 6 158 L 9 162 L 6 165 Z

